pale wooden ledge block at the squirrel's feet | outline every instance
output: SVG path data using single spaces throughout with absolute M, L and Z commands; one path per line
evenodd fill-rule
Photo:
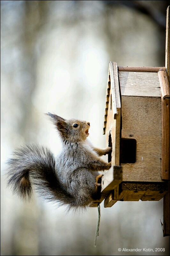
M 112 166 L 101 178 L 101 193 L 108 195 L 109 191 L 113 190 L 122 182 L 122 167 Z

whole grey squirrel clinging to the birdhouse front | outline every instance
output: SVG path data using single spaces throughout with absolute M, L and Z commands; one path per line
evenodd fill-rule
M 66 120 L 46 114 L 55 124 L 62 139 L 62 151 L 54 157 L 46 147 L 26 145 L 18 148 L 8 160 L 8 185 L 23 199 L 30 199 L 32 185 L 49 201 L 67 205 L 68 209 L 86 208 L 100 199 L 101 177 L 98 171 L 108 170 L 99 156 L 112 148 L 95 148 L 86 140 L 90 123 Z

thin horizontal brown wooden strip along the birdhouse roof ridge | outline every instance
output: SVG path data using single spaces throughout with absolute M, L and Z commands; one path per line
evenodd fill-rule
M 118 67 L 119 71 L 132 71 L 132 72 L 158 72 L 159 70 L 166 70 L 165 67 Z

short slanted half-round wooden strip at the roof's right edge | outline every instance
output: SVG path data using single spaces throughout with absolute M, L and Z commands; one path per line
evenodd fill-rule
M 162 93 L 162 98 L 169 98 L 169 82 L 168 82 L 168 76 L 166 71 L 159 71 L 158 72 L 159 77 L 159 84 L 160 89 Z

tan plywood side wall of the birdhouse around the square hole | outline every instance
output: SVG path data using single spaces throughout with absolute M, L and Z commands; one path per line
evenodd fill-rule
M 136 163 L 121 164 L 123 181 L 162 182 L 161 98 L 122 97 L 122 138 L 137 141 Z

